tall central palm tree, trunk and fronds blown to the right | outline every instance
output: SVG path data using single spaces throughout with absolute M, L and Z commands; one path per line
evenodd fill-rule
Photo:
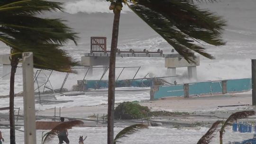
M 108 93 L 108 144 L 114 143 L 115 65 L 122 3 L 137 14 L 146 24 L 162 36 L 168 44 L 189 63 L 194 62 L 193 52 L 207 58 L 214 57 L 205 48 L 193 42 L 225 45 L 221 31 L 226 21 L 207 9 L 199 9 L 193 0 L 107 0 L 114 12 L 110 50 Z M 201 0 L 195 0 L 200 2 Z M 215 0 L 209 0 L 215 1 Z M 132 3 L 132 5 L 129 5 Z

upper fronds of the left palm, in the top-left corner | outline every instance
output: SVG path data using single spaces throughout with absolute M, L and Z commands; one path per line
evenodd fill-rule
M 35 12 L 39 9 L 47 11 L 48 8 L 62 10 L 62 4 L 45 0 L 3 0 L 0 2 L 0 32 L 21 41 L 29 39 L 29 41 L 37 43 L 64 45 L 68 40 L 72 40 L 77 45 L 76 40 L 79 37 L 76 35 L 78 33 L 74 33 L 70 27 L 64 24 L 64 20 L 38 18 L 35 13 L 26 12 L 30 9 Z M 17 9 L 4 10 L 12 7 L 19 7 L 17 9 L 20 11 L 16 11 Z

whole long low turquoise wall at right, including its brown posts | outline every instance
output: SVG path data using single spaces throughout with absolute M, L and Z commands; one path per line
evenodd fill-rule
M 174 97 L 205 96 L 225 93 L 237 93 L 252 89 L 252 79 L 235 79 L 223 81 L 202 81 L 177 85 L 153 86 L 150 99 L 168 99 Z

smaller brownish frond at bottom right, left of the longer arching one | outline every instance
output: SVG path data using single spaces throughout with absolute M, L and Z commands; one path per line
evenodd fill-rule
M 197 144 L 209 144 L 211 142 L 211 139 L 214 137 L 213 133 L 216 132 L 216 129 L 219 124 L 221 124 L 222 121 L 218 120 L 215 123 L 212 124 L 210 129 L 204 134 L 200 140 L 197 142 Z

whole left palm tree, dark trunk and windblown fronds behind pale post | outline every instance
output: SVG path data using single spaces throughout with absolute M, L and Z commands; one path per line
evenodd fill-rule
M 75 62 L 61 49 L 68 40 L 75 44 L 77 33 L 65 25 L 64 20 L 38 18 L 43 11 L 62 10 L 63 3 L 45 0 L 1 0 L 0 1 L 0 41 L 10 47 L 10 93 L 9 121 L 10 144 L 15 144 L 14 129 L 14 80 L 22 52 L 33 52 L 34 67 L 59 72 L 72 72 Z

